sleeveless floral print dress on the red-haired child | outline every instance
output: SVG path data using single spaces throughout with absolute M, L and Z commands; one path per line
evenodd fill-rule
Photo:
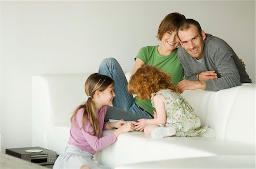
M 179 93 L 165 89 L 152 94 L 151 103 L 153 107 L 153 98 L 155 95 L 163 95 L 166 100 L 165 126 L 173 127 L 176 130 L 175 136 L 200 136 L 207 130 L 207 126 L 201 128 L 201 121 L 196 116 L 194 109 Z

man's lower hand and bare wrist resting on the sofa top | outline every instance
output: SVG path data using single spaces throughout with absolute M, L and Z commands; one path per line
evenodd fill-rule
M 196 90 L 198 88 L 205 90 L 206 86 L 204 81 L 194 82 L 184 79 L 177 84 L 177 88 L 179 88 L 180 92 L 183 93 L 185 90 Z

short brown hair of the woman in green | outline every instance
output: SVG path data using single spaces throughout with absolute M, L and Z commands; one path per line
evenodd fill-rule
M 168 31 L 176 31 L 179 23 L 185 19 L 185 16 L 178 12 L 166 15 L 158 28 L 158 35 L 156 36 L 158 40 L 162 40 L 164 33 Z

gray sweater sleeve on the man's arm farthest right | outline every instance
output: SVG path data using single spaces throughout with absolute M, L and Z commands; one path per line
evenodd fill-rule
M 241 85 L 240 74 L 233 59 L 233 50 L 224 40 L 217 39 L 210 42 L 205 50 L 218 74 L 217 79 L 205 81 L 206 90 L 218 91 Z

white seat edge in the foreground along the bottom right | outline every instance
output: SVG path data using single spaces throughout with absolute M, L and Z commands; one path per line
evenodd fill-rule
M 124 164 L 115 169 L 130 168 L 255 168 L 254 155 L 217 155 L 184 159 L 158 160 Z

